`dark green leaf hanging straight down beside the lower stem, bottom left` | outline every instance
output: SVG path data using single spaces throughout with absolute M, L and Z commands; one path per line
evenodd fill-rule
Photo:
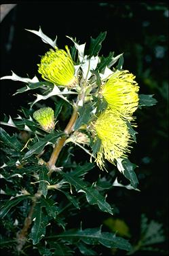
M 43 236 L 45 236 L 45 227 L 48 225 L 48 217 L 43 212 L 41 204 L 36 204 L 33 220 L 34 224 L 31 229 L 30 239 L 33 240 L 33 244 L 37 244 Z

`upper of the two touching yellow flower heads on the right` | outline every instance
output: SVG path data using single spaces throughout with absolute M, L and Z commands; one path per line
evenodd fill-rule
M 138 107 L 138 84 L 129 71 L 116 71 L 102 86 L 102 96 L 121 117 L 130 117 Z

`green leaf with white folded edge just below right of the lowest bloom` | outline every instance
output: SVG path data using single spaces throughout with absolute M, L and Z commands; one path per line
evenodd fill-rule
M 120 172 L 124 174 L 124 176 L 130 180 L 130 183 L 134 189 L 136 189 L 138 185 L 138 179 L 136 177 L 136 173 L 134 172 L 134 169 L 136 168 L 136 164 L 132 164 L 130 160 L 121 159 L 119 158 L 117 160 L 117 168 Z

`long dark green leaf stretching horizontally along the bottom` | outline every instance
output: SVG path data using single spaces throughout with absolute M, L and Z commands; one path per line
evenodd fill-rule
M 88 228 L 86 230 L 68 230 L 56 236 L 48 238 L 62 238 L 67 242 L 77 242 L 81 240 L 86 244 L 102 244 L 108 248 L 117 248 L 130 251 L 131 244 L 124 238 L 119 238 L 113 233 L 101 232 L 100 228 Z

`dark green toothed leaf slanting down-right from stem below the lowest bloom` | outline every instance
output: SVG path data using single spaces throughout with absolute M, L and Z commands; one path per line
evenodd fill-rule
M 75 187 L 77 192 L 83 192 L 86 194 L 86 199 L 89 204 L 97 204 L 101 211 L 113 215 L 110 204 L 105 201 L 105 198 L 101 196 L 94 187 L 88 187 L 88 183 L 75 177 L 71 173 L 67 174 L 62 172 L 62 175 L 68 183 Z

